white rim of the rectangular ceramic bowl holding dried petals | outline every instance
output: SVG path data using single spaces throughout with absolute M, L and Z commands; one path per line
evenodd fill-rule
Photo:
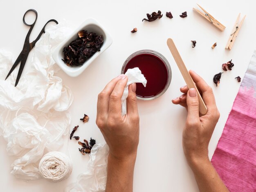
M 105 38 L 103 39 L 103 45 L 101 46 L 101 50 L 97 51 L 95 54 L 93 54 L 88 60 L 83 63 L 83 65 L 76 67 L 76 70 L 69 70 L 62 58 L 59 56 L 61 52 L 63 52 L 63 48 L 68 42 L 71 42 L 72 38 L 82 29 L 85 29 L 89 25 L 95 25 L 100 30 L 103 31 L 103 35 Z M 85 29 L 86 30 L 86 29 Z M 55 63 L 68 75 L 71 77 L 79 76 L 100 54 L 102 54 L 110 45 L 112 44 L 112 38 L 108 31 L 94 18 L 88 18 L 86 19 L 79 27 L 77 27 L 72 33 L 70 33 L 69 36 L 67 36 L 54 50 L 52 53 L 52 58 L 54 59 Z M 66 65 L 66 66 L 65 66 Z

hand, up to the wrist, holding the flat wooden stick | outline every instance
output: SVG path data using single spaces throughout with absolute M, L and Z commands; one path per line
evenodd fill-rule
M 188 111 L 182 134 L 182 145 L 186 159 L 191 166 L 196 161 L 209 161 L 208 145 L 220 113 L 211 87 L 194 71 L 189 71 L 189 73 L 199 91 L 202 92 L 202 98 L 207 106 L 207 113 L 204 116 L 200 116 L 197 92 L 187 86 L 180 88 L 183 94 L 179 98 L 173 99 L 172 102 L 186 107 Z

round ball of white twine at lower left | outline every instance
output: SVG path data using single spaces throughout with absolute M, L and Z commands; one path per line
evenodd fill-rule
M 51 182 L 59 182 L 70 176 L 72 162 L 66 154 L 53 151 L 42 157 L 38 168 L 43 178 Z

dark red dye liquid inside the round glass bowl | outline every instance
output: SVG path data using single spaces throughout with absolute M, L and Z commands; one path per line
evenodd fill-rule
M 161 58 L 153 54 L 139 54 L 127 63 L 124 73 L 134 67 L 139 67 L 148 81 L 146 87 L 142 83 L 136 83 L 137 96 L 153 97 L 162 92 L 167 84 L 168 71 Z

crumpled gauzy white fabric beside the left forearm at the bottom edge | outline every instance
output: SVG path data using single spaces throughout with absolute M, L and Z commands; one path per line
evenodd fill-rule
M 107 144 L 96 143 L 91 150 L 87 171 L 77 177 L 65 192 L 104 192 L 107 182 L 109 147 Z

